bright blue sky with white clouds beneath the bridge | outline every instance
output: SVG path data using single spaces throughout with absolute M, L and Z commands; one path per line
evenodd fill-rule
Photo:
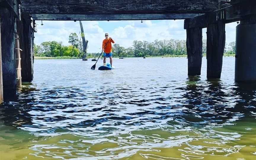
M 43 23 L 44 25 L 41 25 Z M 89 41 L 87 53 L 101 52 L 105 33 L 109 33 L 116 44 L 128 48 L 134 40 L 153 42 L 154 40 L 186 40 L 184 20 L 143 20 L 141 21 L 82 21 L 85 38 Z M 70 33 L 81 32 L 79 21 L 36 21 L 37 32 L 34 34 L 36 45 L 45 41 L 62 42 L 70 45 Z M 237 23 L 226 24 L 226 43 L 236 40 Z M 206 39 L 206 28 L 203 39 Z

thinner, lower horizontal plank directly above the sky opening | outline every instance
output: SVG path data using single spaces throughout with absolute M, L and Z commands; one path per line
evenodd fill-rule
M 186 19 L 198 14 L 31 14 L 34 20 L 161 20 Z

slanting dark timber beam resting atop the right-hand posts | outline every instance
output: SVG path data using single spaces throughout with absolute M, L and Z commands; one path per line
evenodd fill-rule
M 237 2 L 232 6 L 228 6 L 226 8 L 219 9 L 207 14 L 202 14 L 197 17 L 185 19 L 184 29 L 194 27 L 206 28 L 208 23 L 217 23 L 218 21 L 222 21 L 224 23 L 231 23 L 247 19 L 247 16 L 256 14 L 255 8 L 256 1 L 240 0 L 240 3 Z

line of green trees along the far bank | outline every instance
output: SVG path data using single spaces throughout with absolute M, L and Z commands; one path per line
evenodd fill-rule
M 76 33 L 71 33 L 69 43 L 65 46 L 61 42 L 47 41 L 40 45 L 34 45 L 35 56 L 70 56 L 84 58 L 83 43 Z M 87 41 L 88 43 L 88 41 Z M 206 54 L 207 40 L 203 40 L 202 51 Z M 88 47 L 88 45 L 86 46 Z M 124 48 L 119 44 L 114 44 L 112 48 L 113 57 L 148 57 L 148 56 L 166 56 L 166 55 L 186 55 L 186 40 L 155 40 L 154 42 L 133 41 L 133 45 Z M 224 53 L 235 54 L 235 42 L 225 45 Z M 87 58 L 98 56 L 99 53 L 87 53 Z

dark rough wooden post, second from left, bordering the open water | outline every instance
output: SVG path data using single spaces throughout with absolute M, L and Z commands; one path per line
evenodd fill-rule
M 17 21 L 17 32 L 20 37 L 20 49 L 22 49 L 21 57 L 21 76 L 22 81 L 31 82 L 33 80 L 33 64 L 34 64 L 34 30 L 31 26 L 33 21 L 28 13 L 21 14 L 21 21 Z

